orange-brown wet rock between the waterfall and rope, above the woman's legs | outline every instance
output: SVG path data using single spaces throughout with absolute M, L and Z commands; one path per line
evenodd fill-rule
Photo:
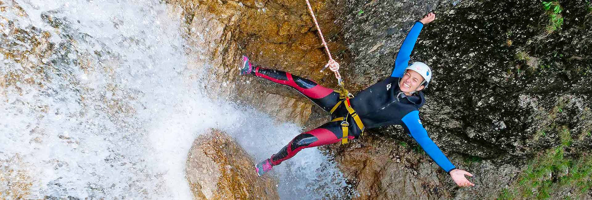
M 189 65 L 203 68 L 210 82 L 203 86 L 213 98 L 230 99 L 255 106 L 280 121 L 304 123 L 313 104 L 297 91 L 278 87 L 271 81 L 253 76 L 239 76 L 241 55 L 255 65 L 288 71 L 300 77 L 334 85 L 329 72 L 319 73 L 326 64 L 314 24 L 304 1 L 192 1 L 170 0 L 182 9 L 184 31 L 189 45 L 210 47 L 188 50 L 194 58 Z M 311 2 L 324 24 L 326 37 L 338 27 L 331 1 Z M 203 34 L 201 34 L 203 33 Z M 332 49 L 343 45 L 332 42 Z

